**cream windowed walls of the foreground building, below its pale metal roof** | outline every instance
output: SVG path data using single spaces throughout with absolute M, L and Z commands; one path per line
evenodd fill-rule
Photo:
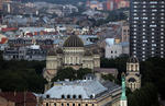
M 95 99 L 55 99 L 55 98 L 45 98 L 43 99 L 43 106 L 119 106 L 121 91 L 117 91 L 113 94 L 113 97 L 110 94 L 101 96 Z M 69 105 L 67 105 L 69 104 Z

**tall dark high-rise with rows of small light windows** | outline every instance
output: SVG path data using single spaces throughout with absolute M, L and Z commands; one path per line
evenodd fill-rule
M 131 0 L 130 51 L 144 61 L 165 57 L 165 0 Z

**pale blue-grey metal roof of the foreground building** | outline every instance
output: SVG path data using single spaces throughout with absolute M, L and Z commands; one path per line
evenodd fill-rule
M 43 97 L 48 95 L 51 98 L 62 98 L 62 95 L 64 95 L 67 98 L 67 95 L 70 95 L 72 98 L 74 95 L 76 97 L 81 95 L 81 98 L 90 98 L 108 91 L 107 87 L 96 80 L 63 81 L 56 82 L 56 84 L 45 92 Z

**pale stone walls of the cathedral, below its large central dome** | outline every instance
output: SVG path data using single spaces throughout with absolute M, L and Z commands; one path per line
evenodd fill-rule
M 52 79 L 56 75 L 59 68 L 72 67 L 75 70 L 79 68 L 89 68 L 94 70 L 94 68 L 100 67 L 100 56 L 85 56 L 84 47 L 65 47 L 63 50 L 64 54 L 47 56 L 44 78 Z

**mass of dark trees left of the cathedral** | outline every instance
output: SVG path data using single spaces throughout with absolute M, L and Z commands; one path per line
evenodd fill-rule
M 0 89 L 2 91 L 43 92 L 46 81 L 42 76 L 45 61 L 10 60 L 0 58 Z

